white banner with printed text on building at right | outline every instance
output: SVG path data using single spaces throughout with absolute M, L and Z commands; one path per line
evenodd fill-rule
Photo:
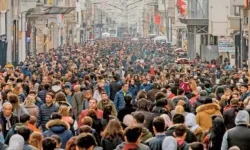
M 234 40 L 232 37 L 219 37 L 218 39 L 219 52 L 235 52 Z

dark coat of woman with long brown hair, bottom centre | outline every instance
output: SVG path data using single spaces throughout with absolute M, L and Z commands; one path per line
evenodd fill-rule
M 101 147 L 103 147 L 103 150 L 113 150 L 122 142 L 123 142 L 122 135 L 115 136 L 114 138 L 102 138 Z

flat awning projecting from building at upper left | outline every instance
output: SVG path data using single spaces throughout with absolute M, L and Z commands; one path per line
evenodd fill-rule
M 42 6 L 27 11 L 28 18 L 37 18 L 44 15 L 69 14 L 75 7 Z

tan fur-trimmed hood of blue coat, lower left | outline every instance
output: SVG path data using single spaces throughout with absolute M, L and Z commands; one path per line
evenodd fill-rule
M 50 120 L 46 124 L 46 128 L 50 129 L 54 133 L 62 133 L 65 130 L 69 130 L 70 126 L 68 123 L 64 122 L 61 119 Z

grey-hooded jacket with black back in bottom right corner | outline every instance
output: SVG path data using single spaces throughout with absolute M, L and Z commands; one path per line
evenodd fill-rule
M 236 127 L 227 130 L 223 136 L 221 150 L 228 150 L 232 146 L 238 146 L 240 150 L 250 148 L 249 114 L 245 110 L 238 112 L 235 118 Z

